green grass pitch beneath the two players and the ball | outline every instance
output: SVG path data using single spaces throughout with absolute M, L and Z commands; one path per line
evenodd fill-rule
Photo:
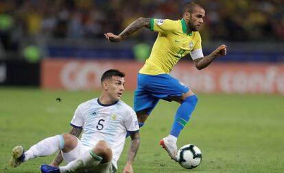
M 34 159 L 19 168 L 9 168 L 10 151 L 16 145 L 29 148 L 40 139 L 69 131 L 69 122 L 79 103 L 99 92 L 46 91 L 29 88 L 0 88 L 0 172 L 39 172 L 39 165 L 53 156 Z M 56 98 L 62 98 L 58 103 Z M 202 163 L 185 170 L 169 159 L 159 140 L 169 133 L 177 103 L 161 101 L 141 129 L 141 146 L 134 172 L 284 172 L 284 98 L 198 94 L 196 111 L 182 131 L 178 146 L 196 144 Z M 123 101 L 132 105 L 132 92 Z M 129 147 L 119 159 L 126 163 Z

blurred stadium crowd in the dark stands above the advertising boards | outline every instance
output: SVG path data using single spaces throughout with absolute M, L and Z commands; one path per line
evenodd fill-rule
M 104 33 L 113 31 L 119 34 L 140 16 L 179 19 L 182 16 L 180 7 L 185 2 L 174 0 L 1 1 L 1 59 L 19 57 L 23 49 L 30 44 L 39 46 L 42 57 L 133 59 L 134 53 L 131 49 L 134 44 L 137 42 L 152 44 L 156 34 L 142 29 L 126 44 L 119 45 L 121 48 L 116 49 L 113 44 L 106 44 Z M 238 42 L 237 45 L 228 45 L 230 50 L 228 53 L 246 48 L 245 51 L 248 51 L 250 56 L 244 53 L 237 58 L 229 54 L 224 60 L 283 61 L 283 49 L 279 49 L 280 46 L 278 46 L 281 44 L 283 48 L 283 1 L 200 0 L 198 2 L 206 8 L 204 26 L 200 31 L 205 53 L 215 48 L 212 46 L 215 42 Z M 248 42 L 254 44 L 248 44 Z M 255 46 L 255 43 L 259 42 L 262 44 Z M 86 49 L 88 51 L 85 51 Z M 254 56 L 257 52 L 260 55 L 267 54 L 268 51 L 272 51 L 272 54 L 266 57 Z M 281 58 L 274 57 L 275 54 L 281 54 Z M 242 57 L 243 55 L 245 57 Z

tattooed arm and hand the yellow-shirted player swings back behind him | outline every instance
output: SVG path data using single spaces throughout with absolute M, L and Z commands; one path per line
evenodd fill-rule
M 119 34 L 119 36 L 113 34 L 113 33 L 106 33 L 104 34 L 104 36 L 106 36 L 106 38 L 110 41 L 110 42 L 120 42 L 121 40 L 123 40 L 124 38 L 127 38 L 128 36 L 130 36 L 132 33 L 134 33 L 135 31 L 138 31 L 139 29 L 141 29 L 142 27 L 147 27 L 147 28 L 151 28 L 151 18 L 138 18 L 136 21 L 132 22 L 130 25 L 128 25 L 128 27 L 126 27 L 126 29 L 124 29 L 121 34 Z

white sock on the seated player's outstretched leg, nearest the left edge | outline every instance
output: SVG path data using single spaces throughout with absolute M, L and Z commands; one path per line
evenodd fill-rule
M 62 135 L 47 137 L 35 144 L 27 152 L 25 152 L 25 160 L 34 159 L 36 157 L 45 157 L 54 154 L 57 150 L 64 148 L 64 139 Z

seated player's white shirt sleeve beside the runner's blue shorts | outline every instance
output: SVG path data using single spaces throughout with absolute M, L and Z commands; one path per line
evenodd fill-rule
M 139 131 L 137 115 L 132 108 L 127 111 L 126 118 L 124 119 L 124 125 L 126 126 L 126 130 L 129 132 Z

